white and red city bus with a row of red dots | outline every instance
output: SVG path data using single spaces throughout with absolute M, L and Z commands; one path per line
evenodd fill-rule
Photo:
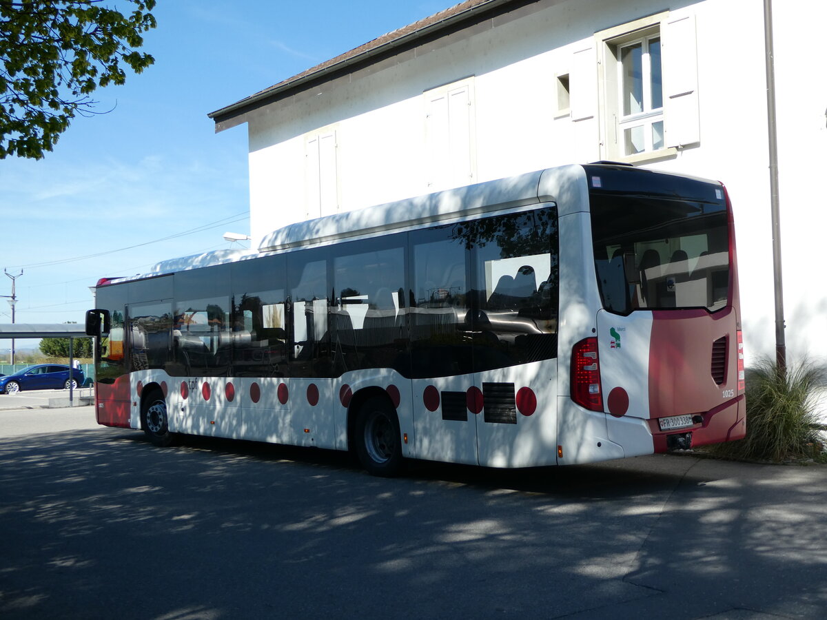
M 566 465 L 745 433 L 722 184 L 569 165 L 102 279 L 98 422 L 407 458 Z

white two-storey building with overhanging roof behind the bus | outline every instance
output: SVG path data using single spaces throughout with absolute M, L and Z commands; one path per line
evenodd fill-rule
M 825 23 L 823 0 L 774 3 L 786 343 L 815 359 L 827 328 Z M 722 180 L 755 359 L 775 345 L 765 67 L 763 0 L 468 0 L 210 116 L 217 131 L 247 124 L 254 240 L 566 163 Z

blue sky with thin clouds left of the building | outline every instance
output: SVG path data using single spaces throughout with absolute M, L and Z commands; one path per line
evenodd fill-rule
M 231 247 L 225 231 L 249 232 L 246 126 L 216 134 L 208 112 L 453 3 L 159 0 L 143 47 L 155 64 L 94 93 L 111 112 L 76 117 L 44 160 L 0 160 L 0 268 L 23 270 L 16 321 L 83 322 L 99 278 Z

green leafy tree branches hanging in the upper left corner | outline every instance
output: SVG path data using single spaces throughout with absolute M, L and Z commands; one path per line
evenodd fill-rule
M 94 113 L 98 86 L 155 62 L 136 51 L 155 27 L 155 0 L 124 14 L 103 0 L 0 0 L 0 159 L 41 159 L 75 114 Z

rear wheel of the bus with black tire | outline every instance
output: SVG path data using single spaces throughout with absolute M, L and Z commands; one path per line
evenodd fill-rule
M 356 417 L 356 455 L 368 474 L 389 478 L 404 464 L 399 418 L 387 398 L 368 398 Z

